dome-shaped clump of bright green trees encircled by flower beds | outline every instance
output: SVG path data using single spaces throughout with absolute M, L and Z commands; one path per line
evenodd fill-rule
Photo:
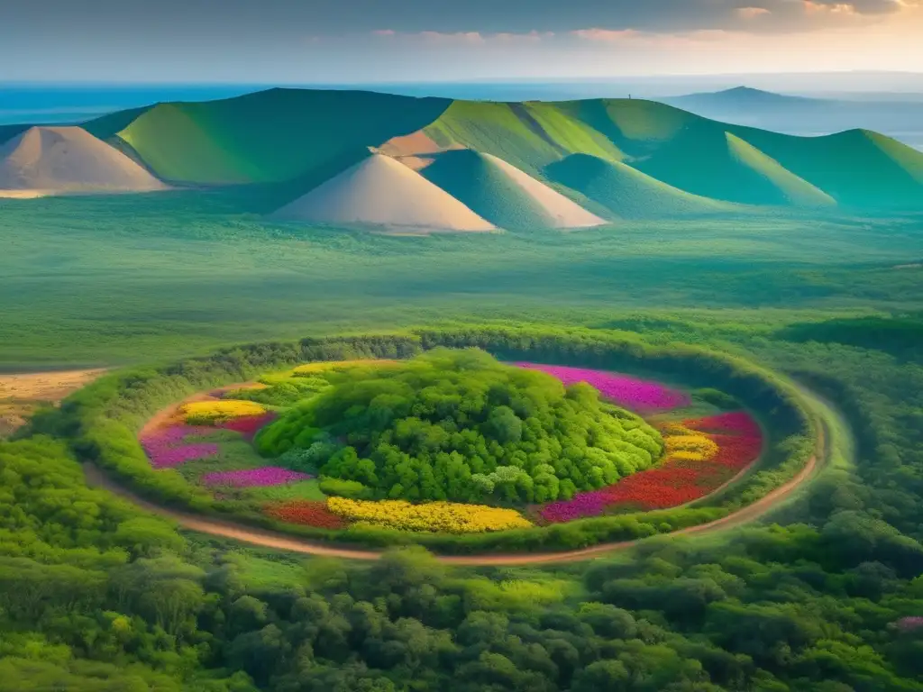
M 434 349 L 400 367 L 356 369 L 260 432 L 277 456 L 318 435 L 344 440 L 320 472 L 331 495 L 547 502 L 650 468 L 660 435 L 610 412 L 587 386 L 498 364 L 475 350 Z

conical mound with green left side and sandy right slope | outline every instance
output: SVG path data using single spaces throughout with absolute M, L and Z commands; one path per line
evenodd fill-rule
M 491 154 L 471 149 L 445 151 L 421 173 L 501 228 L 565 229 L 606 223 Z

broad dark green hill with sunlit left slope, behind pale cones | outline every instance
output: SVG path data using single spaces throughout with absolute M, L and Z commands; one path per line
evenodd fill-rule
M 118 136 L 167 180 L 282 182 L 414 132 L 449 104 L 362 91 L 270 89 L 224 101 L 160 104 Z

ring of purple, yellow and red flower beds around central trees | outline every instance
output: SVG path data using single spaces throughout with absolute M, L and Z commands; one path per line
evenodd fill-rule
M 316 363 L 288 371 L 305 378 L 325 371 L 340 372 L 388 361 Z M 579 492 L 569 500 L 550 502 L 527 511 L 538 524 L 554 524 L 620 511 L 644 511 L 684 505 L 712 493 L 756 460 L 762 447 L 759 424 L 747 412 L 678 420 L 689 395 L 649 380 L 600 370 L 520 363 L 565 385 L 585 382 L 606 400 L 638 412 L 665 414 L 656 424 L 663 436 L 665 459 L 653 468 L 624 476 L 598 490 Z M 280 375 L 281 376 L 281 375 Z M 291 380 L 290 380 L 291 381 Z M 237 393 L 238 396 L 239 393 Z M 234 396 L 234 393 L 231 393 Z M 215 395 L 220 396 L 219 394 Z M 155 469 L 183 467 L 186 478 L 214 489 L 218 501 L 234 496 L 281 521 L 319 529 L 370 525 L 399 531 L 450 534 L 527 529 L 533 526 L 516 509 L 444 501 L 413 504 L 406 500 L 359 500 L 340 496 L 324 499 L 310 466 L 296 471 L 287 461 L 263 465 L 252 446 L 258 431 L 285 411 L 286 405 L 266 406 L 250 400 L 211 399 L 184 404 L 174 423 L 143 435 L 140 442 Z M 673 413 L 670 413 L 673 412 Z M 665 417 L 672 420 L 664 422 Z M 239 435 L 214 436 L 221 431 Z M 194 439 L 194 438 L 205 438 Z M 188 465 L 188 466 L 186 466 Z M 297 466 L 295 467 L 297 468 Z M 310 471 L 310 472 L 303 472 Z M 273 496 L 278 489 L 277 496 Z M 248 493 L 247 491 L 252 492 Z M 233 492 L 232 492 L 233 491 Z M 228 495 L 230 493 L 230 495 Z M 303 493 L 309 493 L 303 495 Z

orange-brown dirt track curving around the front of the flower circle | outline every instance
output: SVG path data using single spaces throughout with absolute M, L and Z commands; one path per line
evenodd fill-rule
M 201 395 L 198 395 L 201 396 Z M 204 395 L 208 397 L 209 395 Z M 162 414 L 161 414 L 162 415 Z M 699 534 L 716 533 L 726 531 L 742 526 L 750 521 L 759 519 L 763 515 L 772 511 L 779 504 L 785 502 L 794 495 L 803 483 L 806 483 L 810 477 L 818 470 L 820 466 L 818 456 L 825 457 L 828 452 L 826 442 L 826 431 L 823 424 L 819 422 L 818 428 L 818 453 L 812 456 L 805 467 L 798 471 L 797 475 L 784 485 L 780 485 L 768 495 L 761 497 L 752 505 L 742 507 L 736 512 L 732 512 L 721 519 L 715 519 L 704 524 L 690 526 L 687 529 L 680 529 L 671 533 L 661 534 L 664 536 L 691 536 Z M 359 548 L 337 547 L 329 543 L 319 543 L 308 541 L 306 539 L 293 538 L 276 531 L 266 531 L 248 527 L 232 521 L 223 521 L 222 519 L 210 519 L 189 512 L 171 509 L 155 505 L 138 495 L 135 495 L 124 486 L 115 483 L 104 472 L 97 469 L 90 463 L 83 465 L 84 472 L 87 476 L 87 483 L 90 487 L 103 488 L 105 490 L 119 495 L 129 502 L 145 509 L 152 514 L 160 515 L 165 519 L 171 519 L 184 529 L 189 531 L 198 531 L 211 536 L 221 538 L 230 538 L 242 543 L 251 543 L 263 548 L 274 550 L 285 550 L 292 553 L 301 553 L 304 555 L 321 555 L 325 557 L 342 557 L 353 560 L 378 560 L 383 555 L 383 551 L 362 550 Z M 646 538 L 633 539 L 631 541 L 620 541 L 617 543 L 600 543 L 589 548 L 578 550 L 559 551 L 551 553 L 526 553 L 526 554 L 482 554 L 482 555 L 435 555 L 439 562 L 447 565 L 463 565 L 469 567 L 513 567 L 522 565 L 541 565 L 547 563 L 566 563 L 580 562 L 581 560 L 592 559 L 599 555 L 615 553 L 626 550 Z

